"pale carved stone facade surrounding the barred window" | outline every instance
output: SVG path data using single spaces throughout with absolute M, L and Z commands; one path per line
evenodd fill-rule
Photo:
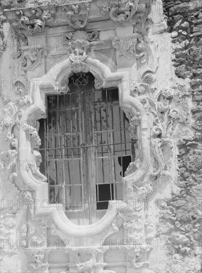
M 10 24 L 1 58 L 2 272 L 166 273 L 171 254 L 159 219 L 179 192 L 181 113 L 162 2 L 2 0 L 2 7 Z M 118 88 L 137 140 L 123 200 L 110 201 L 90 225 L 49 204 L 38 150 L 46 95 L 68 92 L 80 72 L 91 72 L 97 89 Z

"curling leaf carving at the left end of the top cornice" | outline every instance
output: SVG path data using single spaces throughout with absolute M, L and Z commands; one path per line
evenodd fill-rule
M 29 18 L 22 10 L 16 10 L 15 14 L 21 27 L 26 29 L 30 35 L 43 31 L 46 26 L 46 20 L 51 17 L 49 10 L 39 7 L 31 8 L 31 14 L 34 15 L 34 18 Z

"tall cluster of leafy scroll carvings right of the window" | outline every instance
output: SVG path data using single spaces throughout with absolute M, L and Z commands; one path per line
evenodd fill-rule
M 146 81 L 147 78 L 147 81 Z M 147 83 L 148 82 L 148 83 Z M 173 122 L 174 120 L 179 118 L 179 112 L 177 109 L 172 109 L 170 106 L 170 99 L 173 96 L 173 90 L 168 86 L 166 89 L 157 89 L 152 87 L 153 76 L 151 73 L 145 74 L 143 81 L 134 88 L 131 93 L 134 97 L 139 97 L 144 104 L 144 111 L 146 113 L 150 113 L 151 122 L 148 123 L 148 128 L 151 127 L 150 134 L 150 146 L 152 149 L 151 159 L 153 160 L 153 167 L 147 168 L 145 178 L 145 185 L 152 186 L 150 182 L 150 177 L 157 176 L 163 180 L 167 179 L 170 181 L 170 162 L 172 159 L 172 148 L 174 146 L 173 139 L 171 138 Z M 136 139 L 137 130 L 141 124 L 141 113 L 137 113 L 135 117 L 133 117 L 130 121 L 130 133 L 132 138 Z M 157 137 L 158 136 L 158 137 Z M 149 163 L 149 166 L 152 162 Z M 134 170 L 141 169 L 141 162 L 132 162 L 128 169 L 126 170 L 126 175 L 130 176 Z M 127 179 L 126 179 L 127 180 Z M 153 180 L 153 178 L 152 178 Z M 162 180 L 162 179 L 161 179 Z M 139 183 L 133 184 L 134 186 L 134 194 L 132 196 L 137 197 L 137 190 L 135 190 L 135 185 L 137 189 L 139 189 Z M 145 186 L 143 186 L 145 187 Z M 151 190 L 146 189 L 146 196 L 150 194 Z

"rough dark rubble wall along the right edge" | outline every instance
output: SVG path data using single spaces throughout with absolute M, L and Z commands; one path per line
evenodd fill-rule
M 176 90 L 181 113 L 178 141 L 179 192 L 162 202 L 159 236 L 172 259 L 168 272 L 200 272 L 202 252 L 202 2 L 163 0 L 173 44 Z M 170 271 L 169 271 L 170 270 Z

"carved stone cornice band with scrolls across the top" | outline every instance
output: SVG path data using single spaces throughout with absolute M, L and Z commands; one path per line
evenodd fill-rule
M 54 4 L 55 3 L 55 4 Z M 5 5 L 6 7 L 6 5 Z M 19 7 L 19 8 L 18 8 Z M 115 25 L 133 25 L 135 31 L 147 35 L 153 19 L 151 16 L 151 0 L 121 0 L 121 1 L 79 1 L 52 2 L 25 5 L 16 4 L 14 8 L 6 8 L 3 14 L 15 29 L 26 29 L 28 35 L 34 35 L 45 30 L 46 26 L 62 24 L 73 29 L 82 29 L 88 22 L 105 21 L 110 18 Z M 56 18 L 56 20 L 55 20 Z

